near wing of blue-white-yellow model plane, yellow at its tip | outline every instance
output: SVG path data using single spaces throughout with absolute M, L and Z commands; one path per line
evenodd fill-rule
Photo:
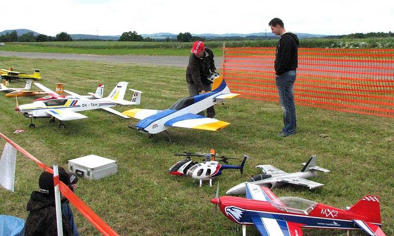
M 220 121 L 214 118 L 207 118 L 193 113 L 188 113 L 164 123 L 167 126 L 182 127 L 190 129 L 203 129 L 210 131 L 217 131 L 229 125 L 230 123 Z

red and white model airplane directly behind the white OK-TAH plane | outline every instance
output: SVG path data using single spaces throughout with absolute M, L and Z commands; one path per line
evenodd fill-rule
M 56 91 L 52 91 L 51 89 L 48 89 L 47 87 L 41 85 L 40 83 L 34 83 L 35 86 L 37 86 L 38 88 L 44 90 L 45 92 L 47 92 L 47 94 L 49 94 L 48 96 L 45 97 L 41 97 L 41 98 L 37 98 L 35 99 L 35 101 L 46 101 L 46 100 L 50 100 L 50 99 L 57 99 L 57 98 L 66 98 L 66 99 L 74 99 L 74 98 L 78 98 L 78 99 L 82 99 L 82 98 L 86 98 L 86 99 L 98 99 L 98 98 L 102 98 L 103 94 L 104 94 L 104 85 L 99 84 L 99 86 L 96 89 L 96 93 L 91 93 L 88 92 L 88 94 L 90 95 L 79 95 L 77 93 L 74 92 L 70 92 L 68 90 L 63 90 L 63 84 L 62 84 L 62 88 L 56 87 Z M 58 84 L 59 85 L 59 84 Z M 66 93 L 70 94 L 70 95 L 60 95 L 63 93 L 63 91 L 65 91 Z

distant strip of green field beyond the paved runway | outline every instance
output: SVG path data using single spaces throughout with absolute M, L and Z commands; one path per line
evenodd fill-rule
M 74 41 L 6 43 L 0 50 L 35 53 L 75 53 L 96 55 L 158 55 L 188 56 L 192 43 L 181 42 L 118 42 L 118 41 Z M 277 40 L 227 41 L 226 47 L 276 47 Z M 223 41 L 207 41 L 215 56 L 222 56 Z M 302 48 L 393 48 L 394 38 L 367 39 L 324 39 L 308 38 L 300 40 Z

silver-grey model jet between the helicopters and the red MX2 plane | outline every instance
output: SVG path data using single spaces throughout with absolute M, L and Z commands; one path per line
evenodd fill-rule
M 263 185 L 271 189 L 284 184 L 294 184 L 308 187 L 309 189 L 324 185 L 307 179 L 310 177 L 316 177 L 318 171 L 325 173 L 329 172 L 329 170 L 316 166 L 316 155 L 311 156 L 308 162 L 302 163 L 302 165 L 304 167 L 301 171 L 295 173 L 286 173 L 271 165 L 259 165 L 256 166 L 256 168 L 260 168 L 263 171 L 263 175 L 251 177 L 248 182 L 256 185 Z M 243 182 L 230 188 L 226 194 L 244 194 L 246 183 L 247 182 Z

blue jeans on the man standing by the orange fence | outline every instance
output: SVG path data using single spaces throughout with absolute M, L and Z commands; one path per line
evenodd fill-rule
M 282 129 L 284 134 L 296 133 L 296 106 L 294 105 L 293 84 L 296 81 L 296 70 L 285 72 L 282 75 L 276 75 L 276 88 L 279 93 L 279 100 L 284 111 Z

